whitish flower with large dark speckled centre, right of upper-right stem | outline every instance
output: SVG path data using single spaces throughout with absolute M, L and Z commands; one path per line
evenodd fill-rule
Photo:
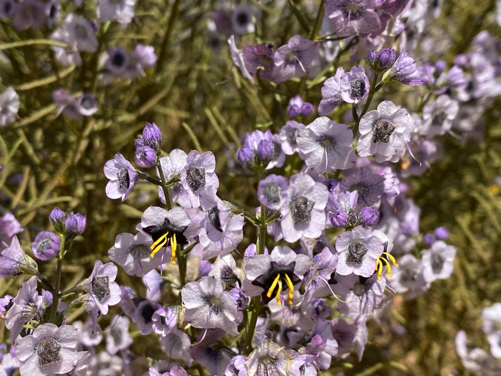
M 407 111 L 391 101 L 383 101 L 377 110 L 367 112 L 360 119 L 357 152 L 360 156 L 373 155 L 381 163 L 397 162 L 406 151 L 413 121 Z

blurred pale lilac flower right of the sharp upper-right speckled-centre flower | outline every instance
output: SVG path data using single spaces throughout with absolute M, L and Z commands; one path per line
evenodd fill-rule
M 446 133 L 452 127 L 452 120 L 459 111 L 459 104 L 447 95 L 426 103 L 423 108 L 423 124 L 419 133 L 432 137 Z

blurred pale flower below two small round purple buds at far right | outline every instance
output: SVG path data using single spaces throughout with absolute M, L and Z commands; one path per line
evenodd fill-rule
M 435 279 L 447 279 L 452 274 L 456 249 L 445 244 L 442 240 L 437 240 L 431 248 L 424 251 L 421 257 L 423 264 L 423 276 L 426 282 L 433 282 Z

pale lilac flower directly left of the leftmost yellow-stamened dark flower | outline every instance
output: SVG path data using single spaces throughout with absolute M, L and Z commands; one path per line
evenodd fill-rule
M 160 265 L 161 254 L 150 257 L 152 243 L 151 237 L 143 232 L 136 235 L 121 233 L 115 238 L 115 244 L 108 251 L 108 256 L 127 274 L 144 276 Z

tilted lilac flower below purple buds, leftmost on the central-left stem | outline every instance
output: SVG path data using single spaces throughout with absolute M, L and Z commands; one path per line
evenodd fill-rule
M 124 201 L 138 180 L 136 170 L 120 153 L 116 153 L 115 159 L 105 163 L 104 174 L 110 179 L 106 184 L 106 196 L 110 199 L 122 198 Z

